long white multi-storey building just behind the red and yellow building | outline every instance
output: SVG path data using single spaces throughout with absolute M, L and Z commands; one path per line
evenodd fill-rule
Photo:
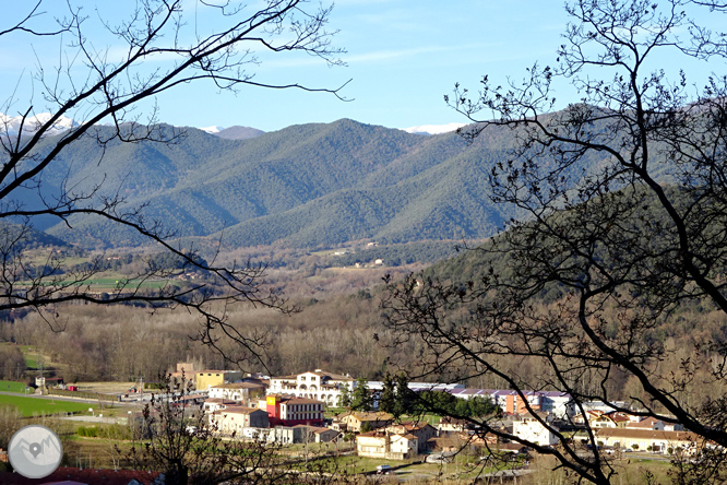
M 344 387 L 347 387 L 348 392 L 353 393 L 356 380 L 348 375 L 342 376 L 315 369 L 312 372 L 271 378 L 267 394 L 295 395 L 323 401 L 329 406 L 337 406 L 341 405 Z

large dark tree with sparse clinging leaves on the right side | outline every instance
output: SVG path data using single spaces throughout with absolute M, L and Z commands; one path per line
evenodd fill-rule
M 594 449 L 586 453 L 534 413 L 526 391 L 568 392 L 579 413 L 597 401 L 681 423 L 714 448 L 699 463 L 708 472 L 698 477 L 682 463 L 675 476 L 719 482 L 727 347 L 694 338 L 683 343 L 692 354 L 667 367 L 669 350 L 654 335 L 690 304 L 727 314 L 727 79 L 713 74 L 695 86 L 688 72 L 672 80 L 653 66 L 657 56 L 720 66 L 723 33 L 692 16 L 726 13 L 725 5 L 575 0 L 565 8 L 571 22 L 553 67 L 536 64 L 522 84 L 505 87 L 485 76 L 474 96 L 457 85 L 446 97 L 477 121 L 461 131 L 468 141 L 512 130 L 514 147 L 492 168 L 490 185 L 493 200 L 525 217 L 477 249 L 490 267 L 478 281 L 392 283 L 389 324 L 425 342 L 422 372 L 497 376 L 516 390 L 560 446 L 487 421 L 481 429 L 553 456 L 577 481 L 606 484 L 617 474 L 597 451 L 597 430 L 583 429 Z M 556 80 L 570 82 L 582 102 L 551 113 Z M 559 295 L 555 303 L 544 303 L 546 292 Z M 503 360 L 520 366 L 505 370 Z M 616 376 L 630 381 L 629 395 L 610 385 Z M 694 393 L 705 401 L 693 404 L 687 397 Z

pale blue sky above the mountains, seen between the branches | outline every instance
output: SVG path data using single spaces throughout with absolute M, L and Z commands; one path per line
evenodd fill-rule
M 251 0 L 253 7 L 257 1 Z M 8 15 L 0 23 L 24 14 L 25 2 L 5 3 Z M 90 16 L 88 37 L 99 50 L 109 46 L 112 57 L 115 40 L 105 37 L 93 21 L 122 17 L 123 12 L 108 7 L 116 2 L 78 3 Z M 205 11 L 192 8 L 194 22 L 202 25 Z M 57 14 L 49 7 L 44 12 L 45 16 L 36 19 L 38 23 Z M 339 94 L 347 100 L 295 88 L 243 86 L 234 94 L 200 82 L 159 96 L 155 100 L 157 116 L 177 126 L 248 126 L 264 131 L 341 118 L 390 128 L 466 122 L 443 100 L 454 84 L 476 91 L 484 74 L 505 83 L 522 79 L 536 61 L 552 63 L 568 20 L 558 0 L 338 0 L 326 28 L 337 31 L 332 42 L 346 50 L 341 56 L 345 67 L 329 67 L 299 52 L 278 52 L 264 56 L 252 72 L 253 81 L 261 83 L 343 86 Z M 4 27 L 0 25 L 0 31 Z M 44 104 L 38 96 L 43 90 L 29 80 L 39 64 L 48 72 L 67 52 L 56 39 L 36 38 L 28 44 L 21 36 L 5 36 L 4 40 L 0 43 L 0 99 L 12 103 L 0 105 L 0 113 L 14 116 L 26 109 L 29 98 L 35 111 L 41 113 Z M 76 78 L 83 75 L 81 68 L 76 61 Z M 559 106 L 579 99 L 574 90 L 560 88 Z M 151 105 L 139 109 L 143 114 Z

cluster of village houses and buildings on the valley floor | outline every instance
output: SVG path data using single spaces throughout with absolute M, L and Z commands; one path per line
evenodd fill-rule
M 198 391 L 207 391 L 203 402 L 214 429 L 224 435 L 264 439 L 283 443 L 330 442 L 356 437 L 359 456 L 402 460 L 431 451 L 432 438 L 460 437 L 470 442 L 497 438 L 468 429 L 466 423 L 443 418 L 437 427 L 421 422 L 395 422 L 383 412 L 347 412 L 324 419 L 327 406 L 339 406 L 344 393 L 356 389 L 349 375 L 321 369 L 302 374 L 267 377 L 248 376 L 234 370 L 194 370 L 179 364 L 178 372 L 194 376 Z M 368 382 L 377 395 L 381 382 Z M 698 436 L 682 426 L 654 418 L 612 412 L 603 403 L 586 403 L 575 413 L 571 397 L 562 392 L 524 392 L 466 389 L 461 385 L 409 383 L 415 391 L 439 390 L 461 399 L 489 398 L 502 410 L 502 430 L 541 446 L 556 446 L 560 436 L 575 436 L 593 429 L 599 446 L 618 450 L 648 450 L 693 453 L 701 448 Z M 562 431 L 562 433 L 561 433 Z

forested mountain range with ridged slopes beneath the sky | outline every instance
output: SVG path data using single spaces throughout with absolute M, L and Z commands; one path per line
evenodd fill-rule
M 510 130 L 489 130 L 467 144 L 453 132 L 422 137 L 349 119 L 242 140 L 189 128 L 174 144 L 112 141 L 105 151 L 86 138 L 58 156 L 43 190 L 46 197 L 61 186 L 90 193 L 102 185 L 96 197 L 120 194 L 179 236 L 224 235 L 233 247 L 478 239 L 516 215 L 494 205 L 488 191 L 488 174 L 512 142 Z M 33 194 L 26 196 L 32 205 Z M 144 242 L 93 216 L 69 224 L 35 222 L 82 246 Z

